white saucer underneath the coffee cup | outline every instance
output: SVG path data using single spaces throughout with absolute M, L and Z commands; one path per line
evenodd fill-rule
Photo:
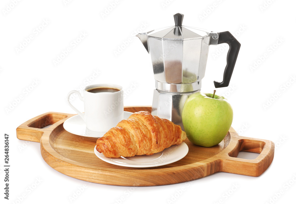
M 124 111 L 123 119 L 127 119 L 131 112 Z M 118 121 L 120 122 L 120 121 Z M 67 119 L 63 124 L 65 130 L 75 135 L 85 136 L 85 137 L 103 137 L 106 132 L 94 132 L 86 128 L 86 124 L 79 115 L 75 115 Z

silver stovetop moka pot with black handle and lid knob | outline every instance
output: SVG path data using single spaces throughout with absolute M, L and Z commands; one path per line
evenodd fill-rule
M 136 36 L 151 55 L 156 88 L 152 114 L 169 119 L 184 130 L 182 109 L 190 94 L 200 92 L 209 46 L 229 45 L 223 81 L 214 81 L 215 87 L 220 88 L 229 85 L 240 43 L 229 31 L 216 33 L 183 26 L 183 17 L 183 14 L 177 13 L 174 15 L 175 26 Z

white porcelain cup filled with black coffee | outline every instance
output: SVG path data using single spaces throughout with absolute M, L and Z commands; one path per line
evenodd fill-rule
M 115 92 L 104 92 L 114 90 Z M 98 90 L 96 90 L 98 89 Z M 92 93 L 90 91 L 103 91 Z M 71 103 L 70 96 L 76 93 L 84 102 L 84 114 L 78 111 Z M 123 120 L 123 90 L 115 84 L 94 84 L 83 89 L 83 96 L 77 91 L 70 91 L 67 95 L 69 106 L 78 113 L 86 123 L 86 128 L 94 132 L 107 132 Z

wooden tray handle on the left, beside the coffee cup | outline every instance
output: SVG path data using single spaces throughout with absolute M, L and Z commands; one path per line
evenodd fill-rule
M 40 142 L 44 132 L 52 132 L 57 125 L 75 114 L 47 112 L 36 116 L 17 127 L 17 138 L 32 142 Z M 50 127 L 47 127 L 51 125 Z

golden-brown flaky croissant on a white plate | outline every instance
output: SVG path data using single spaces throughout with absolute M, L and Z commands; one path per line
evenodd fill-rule
M 96 141 L 96 150 L 105 157 L 152 155 L 186 140 L 186 133 L 168 119 L 147 111 L 133 113 Z

